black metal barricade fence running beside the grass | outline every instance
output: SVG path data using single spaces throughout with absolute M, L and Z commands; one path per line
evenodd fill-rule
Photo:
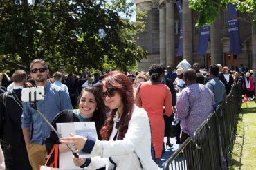
M 226 102 L 194 132 L 193 138 L 185 140 L 163 165 L 163 169 L 223 169 L 229 164 L 237 131 L 238 113 L 241 108 L 241 84 L 235 84 Z M 195 117 L 196 118 L 196 117 Z

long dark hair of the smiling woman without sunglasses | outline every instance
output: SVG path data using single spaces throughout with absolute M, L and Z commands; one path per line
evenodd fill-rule
M 91 120 L 95 122 L 98 138 L 101 140 L 101 137 L 99 134 L 100 134 L 100 129 L 104 125 L 104 122 L 107 118 L 106 116 L 107 107 L 104 104 L 104 99 L 102 97 L 101 89 L 94 86 L 87 86 L 82 88 L 80 95 L 77 97 L 77 105 L 79 105 L 81 96 L 85 91 L 93 93 L 95 100 L 97 102 L 97 109 L 94 111 L 93 117 Z

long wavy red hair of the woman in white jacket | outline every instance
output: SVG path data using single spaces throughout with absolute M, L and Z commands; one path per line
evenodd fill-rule
M 125 137 L 125 133 L 127 133 L 128 124 L 133 112 L 134 95 L 132 82 L 127 75 L 119 71 L 111 71 L 106 77 L 104 77 L 104 79 L 102 79 L 102 84 L 104 84 L 106 88 L 115 88 L 117 93 L 121 96 L 121 102 L 124 108 L 119 121 L 119 133 L 117 139 L 122 140 Z M 116 115 L 116 111 L 117 108 L 110 111 L 104 126 L 100 130 L 102 140 L 109 140 L 113 129 L 113 118 Z

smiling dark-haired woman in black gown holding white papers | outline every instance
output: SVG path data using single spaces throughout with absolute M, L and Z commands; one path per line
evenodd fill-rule
M 56 128 L 57 123 L 64 122 L 94 121 L 98 138 L 101 139 L 100 129 L 106 120 L 106 107 L 100 89 L 93 86 L 82 88 L 80 95 L 77 97 L 77 105 L 78 109 L 64 110 L 58 113 L 52 122 L 53 126 Z M 46 139 L 47 153 L 51 152 L 53 144 L 59 144 L 59 153 L 70 151 L 66 144 L 60 143 L 57 134 L 51 131 L 50 136 Z M 71 161 L 71 163 L 73 162 Z M 51 164 L 51 161 L 48 164 Z

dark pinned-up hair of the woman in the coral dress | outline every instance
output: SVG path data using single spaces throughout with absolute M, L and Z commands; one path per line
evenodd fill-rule
M 153 83 L 158 83 L 161 82 L 161 78 L 163 75 L 163 67 L 161 64 L 152 64 L 149 67 L 149 75 L 150 75 L 150 80 Z

